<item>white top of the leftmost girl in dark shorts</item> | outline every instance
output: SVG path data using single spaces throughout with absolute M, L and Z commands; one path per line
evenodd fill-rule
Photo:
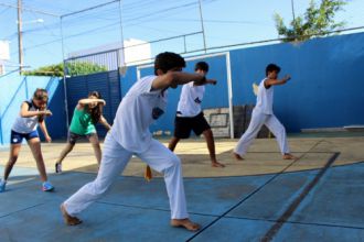
M 25 102 L 29 105 L 29 111 L 39 111 L 39 109 L 33 105 L 32 100 Z M 36 130 L 39 120 L 39 116 L 29 118 L 22 118 L 21 116 L 18 116 L 15 122 L 12 124 L 11 130 L 15 131 L 17 133 L 31 133 L 32 131 Z

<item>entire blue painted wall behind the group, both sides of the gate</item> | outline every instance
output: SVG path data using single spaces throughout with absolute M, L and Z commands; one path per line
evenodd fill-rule
M 281 66 L 281 76 L 292 79 L 275 87 L 274 109 L 288 132 L 301 129 L 338 128 L 364 124 L 364 33 L 315 38 L 300 44 L 274 44 L 231 51 L 233 103 L 255 103 L 253 82 L 265 77 L 269 63 Z M 202 58 L 210 64 L 208 77 L 216 86 L 207 86 L 203 108 L 228 107 L 225 56 Z M 186 72 L 193 72 L 197 61 L 188 62 Z M 153 73 L 141 69 L 141 76 Z M 137 68 L 129 67 L 121 77 L 120 94 L 126 95 L 137 80 Z M 0 144 L 9 143 L 10 129 L 23 100 L 31 98 L 36 87 L 50 90 L 53 117 L 46 120 L 53 139 L 66 138 L 64 89 L 62 80 L 49 77 L 9 75 L 0 78 Z M 181 88 L 169 90 L 165 114 L 151 131 L 173 132 L 173 120 Z

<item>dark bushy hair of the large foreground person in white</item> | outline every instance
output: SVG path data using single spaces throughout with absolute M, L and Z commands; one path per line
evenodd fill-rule
M 161 69 L 167 73 L 175 67 L 185 67 L 184 58 L 172 52 L 163 52 L 156 56 L 154 61 L 154 74 L 157 75 L 157 69 Z

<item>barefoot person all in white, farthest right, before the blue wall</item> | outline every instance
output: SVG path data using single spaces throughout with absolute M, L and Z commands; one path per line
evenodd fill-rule
M 274 86 L 283 85 L 291 78 L 289 75 L 286 75 L 279 80 L 279 72 L 280 67 L 275 64 L 269 64 L 266 67 L 266 78 L 259 84 L 257 103 L 253 110 L 249 127 L 234 148 L 233 154 L 236 160 L 243 160 L 243 156 L 264 124 L 276 136 L 283 160 L 295 158 L 288 147 L 286 129 L 272 112 Z

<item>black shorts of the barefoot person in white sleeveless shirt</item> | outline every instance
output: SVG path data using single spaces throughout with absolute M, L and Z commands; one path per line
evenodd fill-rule
M 191 130 L 196 135 L 202 134 L 205 130 L 210 130 L 211 127 L 207 123 L 203 112 L 200 112 L 195 117 L 175 117 L 174 119 L 174 136 L 179 139 L 188 139 L 191 134 Z

